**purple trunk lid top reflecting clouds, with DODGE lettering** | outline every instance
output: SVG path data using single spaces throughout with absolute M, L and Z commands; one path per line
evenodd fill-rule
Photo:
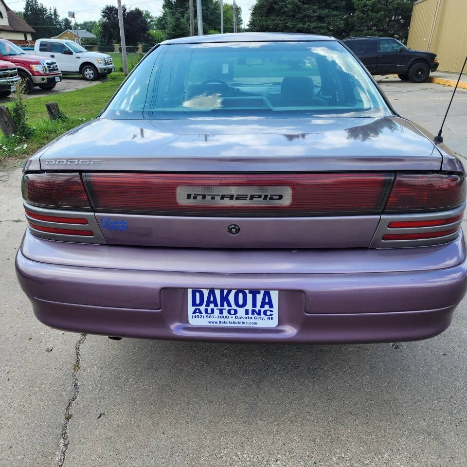
M 87 171 L 440 170 L 442 162 L 430 140 L 399 117 L 204 117 L 96 119 L 42 151 L 41 169 L 76 170 L 53 162 L 84 156 L 100 160 Z

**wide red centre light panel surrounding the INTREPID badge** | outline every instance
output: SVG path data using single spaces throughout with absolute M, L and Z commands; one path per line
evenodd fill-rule
M 85 181 L 96 209 L 161 214 L 209 214 L 300 216 L 310 214 L 377 213 L 383 202 L 389 174 L 383 173 L 311 173 L 311 174 L 131 174 L 89 173 Z M 186 195 L 188 188 L 208 193 L 203 202 L 189 205 L 177 198 L 177 189 Z M 242 189 L 241 203 L 217 203 L 222 189 L 234 193 Z M 261 205 L 245 195 L 267 193 L 271 187 L 288 193 L 283 205 Z M 211 190 L 211 192 L 210 192 Z M 196 192 L 195 192 L 196 193 Z M 226 196 L 226 195 L 224 195 Z M 235 195 L 237 196 L 237 195 Z M 245 199 L 244 197 L 247 196 Z M 210 199 L 214 197 L 214 201 Z M 235 198 L 237 199 L 237 198 Z M 266 204 L 266 203 L 265 203 Z

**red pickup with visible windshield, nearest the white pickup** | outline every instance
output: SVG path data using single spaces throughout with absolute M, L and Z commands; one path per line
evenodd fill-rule
M 61 81 L 62 73 L 53 59 L 26 54 L 20 47 L 6 39 L 0 39 L 0 60 L 15 64 L 18 75 L 24 82 L 24 91 L 31 92 L 35 86 L 44 90 L 54 89 Z

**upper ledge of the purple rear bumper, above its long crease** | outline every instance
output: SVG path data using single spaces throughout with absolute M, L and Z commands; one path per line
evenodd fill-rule
M 38 263 L 135 271 L 214 274 L 332 274 L 448 269 L 466 256 L 463 237 L 432 247 L 368 250 L 135 248 L 54 242 L 24 235 L 21 252 Z

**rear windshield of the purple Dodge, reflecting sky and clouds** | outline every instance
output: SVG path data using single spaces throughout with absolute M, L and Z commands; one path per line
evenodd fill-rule
M 162 45 L 103 118 L 198 114 L 386 116 L 381 94 L 336 41 Z

